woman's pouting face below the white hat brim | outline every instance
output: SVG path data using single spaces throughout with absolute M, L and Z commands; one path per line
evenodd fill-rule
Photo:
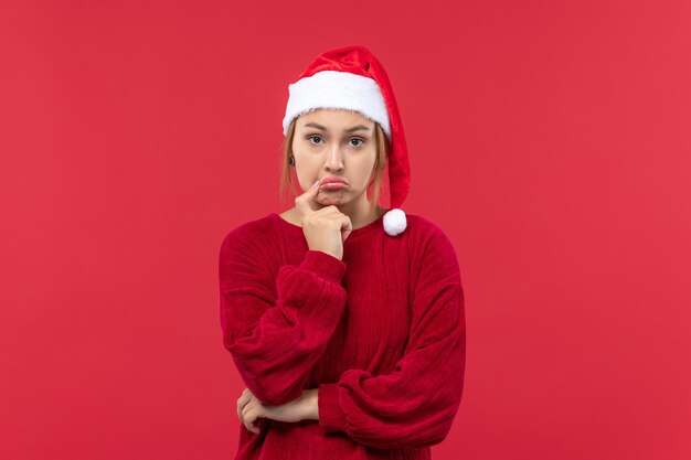
M 337 176 L 346 181 L 339 189 L 321 186 L 317 202 L 328 206 L 344 205 L 360 196 L 366 200 L 376 161 L 374 121 L 350 110 L 304 114 L 296 121 L 293 154 L 304 191 L 317 179 Z

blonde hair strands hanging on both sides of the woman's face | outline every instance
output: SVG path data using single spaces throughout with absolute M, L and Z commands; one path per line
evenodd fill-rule
M 293 156 L 293 139 L 295 137 L 295 125 L 296 125 L 297 119 L 298 117 L 294 118 L 293 121 L 290 121 L 290 126 L 288 127 L 288 132 L 286 133 L 286 137 L 283 140 L 283 146 L 280 149 L 281 150 L 281 172 L 280 172 L 279 195 L 280 195 L 280 200 L 284 203 L 288 195 L 288 190 L 290 190 L 296 197 L 299 193 L 302 193 L 301 191 L 299 192 L 296 191 L 295 184 L 293 183 L 293 178 L 290 175 L 290 168 L 291 168 L 290 157 Z M 372 181 L 370 181 L 370 184 L 368 185 L 368 190 L 365 191 L 365 193 L 368 193 L 370 190 L 372 190 L 371 193 L 368 193 L 368 197 L 369 197 L 371 206 L 375 206 L 379 204 L 379 195 L 381 191 L 380 189 L 382 184 L 382 178 L 384 174 L 384 167 L 386 164 L 386 153 L 389 152 L 389 149 L 391 147 L 389 143 L 389 139 L 386 138 L 386 135 L 384 133 L 384 130 L 378 122 L 374 122 L 374 145 L 376 148 L 376 160 L 374 161 L 374 178 Z M 298 184 L 298 188 L 299 188 L 299 184 Z

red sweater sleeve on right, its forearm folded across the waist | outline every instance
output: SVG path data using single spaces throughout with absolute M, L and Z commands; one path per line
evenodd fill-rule
M 440 229 L 427 239 L 412 295 L 408 342 L 395 371 L 351 368 L 319 385 L 319 425 L 378 449 L 442 442 L 460 406 L 466 328 L 456 254 Z M 412 280 L 413 282 L 413 280 Z

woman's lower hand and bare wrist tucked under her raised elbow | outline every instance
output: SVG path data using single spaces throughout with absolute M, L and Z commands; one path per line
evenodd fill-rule
M 245 388 L 237 399 L 237 418 L 252 432 L 258 435 L 256 426 L 258 418 L 270 418 L 277 421 L 300 421 L 305 419 L 319 419 L 317 394 L 319 389 L 305 389 L 302 396 L 280 406 L 265 406 L 254 394 Z

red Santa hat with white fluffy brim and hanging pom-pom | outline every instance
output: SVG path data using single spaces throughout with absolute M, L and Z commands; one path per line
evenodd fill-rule
M 294 118 L 317 108 L 349 109 L 378 122 L 391 146 L 386 156 L 391 208 L 384 231 L 397 235 L 406 227 L 398 208 L 411 188 L 411 169 L 398 106 L 382 64 L 364 46 L 352 45 L 317 56 L 298 79 L 288 85 L 284 136 Z

